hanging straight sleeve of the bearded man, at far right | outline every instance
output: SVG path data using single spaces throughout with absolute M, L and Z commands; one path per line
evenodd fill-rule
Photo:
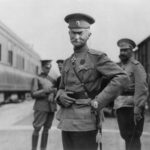
M 146 72 L 140 63 L 134 64 L 134 77 L 135 77 L 134 112 L 140 113 L 141 109 L 144 108 L 145 102 L 148 97 Z

